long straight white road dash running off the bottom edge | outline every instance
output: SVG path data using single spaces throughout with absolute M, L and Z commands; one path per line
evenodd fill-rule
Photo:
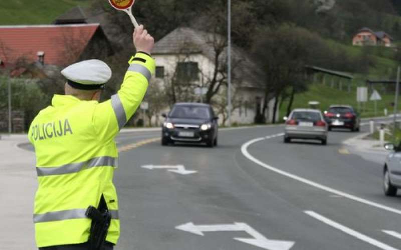
M 337 222 L 335 222 L 335 221 L 333 221 L 333 220 L 331 220 L 329 218 L 326 218 L 326 217 L 324 217 L 324 216 L 322 216 L 322 215 L 320 215 L 320 214 L 318 214 L 318 213 L 316 213 L 314 211 L 304 211 L 304 212 L 306 214 L 308 214 L 309 216 L 312 216 L 315 219 L 322 221 L 323 223 L 326 223 L 326 224 L 328 224 L 328 225 L 330 225 L 330 226 L 332 226 L 334 228 L 337 228 L 337 229 L 339 229 L 339 230 L 341 230 L 341 231 L 343 231 L 343 232 L 345 232 L 345 233 L 347 233 L 347 234 L 349 234 L 351 236 L 354 236 L 355 238 L 358 238 L 358 239 L 360 239 L 362 241 L 365 241 L 365 242 L 367 242 L 367 243 L 369 243 L 371 245 L 377 246 L 377 247 L 379 247 L 379 248 L 381 248 L 383 250 L 398 250 L 397 248 L 394 248 L 392 246 L 384 244 L 383 242 L 380 242 L 380 241 L 378 241 L 378 240 L 376 240 L 374 238 L 366 236 L 365 234 L 362 234 L 362 233 L 357 232 L 357 231 L 355 231 L 355 230 L 353 230 L 353 229 L 351 229 L 349 227 L 341 225 L 341 224 L 339 224 L 339 223 L 337 223 Z

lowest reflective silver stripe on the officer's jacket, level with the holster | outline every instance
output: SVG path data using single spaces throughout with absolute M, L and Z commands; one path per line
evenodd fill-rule
M 78 218 L 88 218 L 85 215 L 86 209 L 71 209 L 62 210 L 54 212 L 46 212 L 40 214 L 34 214 L 34 222 L 49 222 L 58 221 L 65 219 L 78 219 Z M 109 210 L 112 219 L 118 219 L 118 210 Z

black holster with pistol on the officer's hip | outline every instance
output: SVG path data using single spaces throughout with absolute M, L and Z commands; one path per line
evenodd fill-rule
M 104 201 L 102 195 L 102 201 Z M 101 250 L 104 241 L 106 240 L 107 230 L 110 226 L 111 214 L 107 210 L 107 208 L 101 208 L 102 205 L 99 205 L 99 209 L 94 206 L 89 206 L 86 209 L 86 216 L 92 219 L 91 230 L 89 235 L 89 244 L 91 250 Z M 107 206 L 106 206 L 107 207 Z

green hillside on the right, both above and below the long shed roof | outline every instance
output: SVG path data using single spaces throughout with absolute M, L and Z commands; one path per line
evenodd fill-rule
M 312 83 L 309 85 L 308 91 L 295 95 L 294 103 L 292 108 L 297 107 L 308 107 L 308 101 L 316 100 L 320 102 L 320 109 L 323 111 L 328 108 L 331 104 L 349 104 L 358 108 L 356 102 L 356 87 L 364 86 L 366 79 L 395 79 L 395 72 L 398 62 L 394 60 L 395 51 L 392 48 L 386 47 L 360 47 L 345 45 L 334 40 L 326 40 L 330 47 L 335 49 L 340 47 L 344 49 L 349 55 L 357 55 L 360 53 L 369 53 L 371 60 L 374 65 L 369 66 L 369 72 L 367 74 L 360 74 L 350 72 L 354 79 L 351 83 L 351 92 L 346 91 L 346 81 L 343 80 L 343 91 L 335 87 L 330 87 L 331 78 L 326 76 L 326 84 L 321 82 Z M 337 82 L 338 78 L 334 77 L 334 81 Z M 389 90 L 385 92 L 382 85 L 374 86 L 382 97 L 382 100 L 377 101 L 377 113 L 374 112 L 374 102 L 368 101 L 360 107 L 362 117 L 381 116 L 383 115 L 383 109 L 387 108 L 388 113 L 392 113 L 393 107 L 391 102 L 394 101 L 394 94 Z M 369 92 L 369 97 L 370 97 Z M 287 111 L 288 100 L 285 100 L 280 106 L 280 116 L 284 116 Z

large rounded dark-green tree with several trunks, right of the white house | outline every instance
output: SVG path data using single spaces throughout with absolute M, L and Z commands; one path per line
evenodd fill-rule
M 321 43 L 318 35 L 293 25 L 264 28 L 255 39 L 253 54 L 264 72 L 265 103 L 262 114 L 266 113 L 267 103 L 273 93 L 273 123 L 276 122 L 280 99 L 287 95 L 288 89 L 290 100 L 297 91 L 307 89 L 305 65 L 319 61 L 319 55 L 323 54 L 319 47 L 324 48 Z

